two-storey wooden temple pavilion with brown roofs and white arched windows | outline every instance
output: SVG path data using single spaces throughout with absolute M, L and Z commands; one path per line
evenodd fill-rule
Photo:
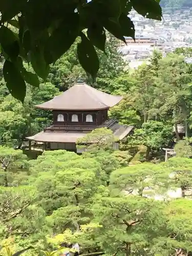
M 76 148 L 76 141 L 100 127 L 111 129 L 118 141 L 122 140 L 133 130 L 133 126 L 121 125 L 117 119 L 108 118 L 108 110 L 122 98 L 78 81 L 59 96 L 35 105 L 38 109 L 52 111 L 53 123 L 44 131 L 27 137 L 29 144 L 31 141 L 43 142 L 44 150 L 62 149 L 81 153 L 83 149 Z M 118 149 L 118 141 L 114 143 L 114 149 Z

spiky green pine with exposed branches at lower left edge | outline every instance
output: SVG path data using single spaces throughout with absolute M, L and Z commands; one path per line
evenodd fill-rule
M 1 240 L 9 236 L 18 236 L 20 239 L 33 236 L 37 241 L 40 232 L 46 227 L 46 220 L 44 210 L 35 204 L 34 187 L 1 187 L 0 194 Z

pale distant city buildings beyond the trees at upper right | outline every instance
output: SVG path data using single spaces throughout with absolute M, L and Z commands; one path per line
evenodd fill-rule
M 135 25 L 135 41 L 125 37 L 127 45 L 122 42 L 119 51 L 131 68 L 147 61 L 154 50 L 166 56 L 178 47 L 192 47 L 192 8 L 164 13 L 161 22 L 146 19 L 134 10 L 129 17 Z

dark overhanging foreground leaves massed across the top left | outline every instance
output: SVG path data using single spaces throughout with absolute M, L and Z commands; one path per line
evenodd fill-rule
M 161 20 L 159 0 L 2 0 L 0 3 L 3 74 L 10 93 L 24 101 L 26 82 L 38 87 L 49 65 L 69 50 L 77 37 L 77 56 L 93 77 L 99 69 L 95 47 L 105 51 L 105 31 L 125 42 L 135 37 L 127 15 L 134 8 L 146 18 Z M 11 26 L 15 29 L 10 29 Z M 87 32 L 85 32 L 87 30 Z M 28 72 L 23 61 L 31 63 Z

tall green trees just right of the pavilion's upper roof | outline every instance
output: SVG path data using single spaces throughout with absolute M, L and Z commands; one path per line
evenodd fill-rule
M 156 118 L 157 110 L 154 108 L 156 95 L 156 78 L 158 77 L 159 60 L 162 54 L 154 51 L 149 64 L 141 65 L 132 74 L 119 76 L 119 90 L 116 92 L 124 95 L 123 100 L 112 110 L 112 116 L 125 124 L 140 126 L 143 122 Z M 126 76 L 126 82 L 123 78 Z

